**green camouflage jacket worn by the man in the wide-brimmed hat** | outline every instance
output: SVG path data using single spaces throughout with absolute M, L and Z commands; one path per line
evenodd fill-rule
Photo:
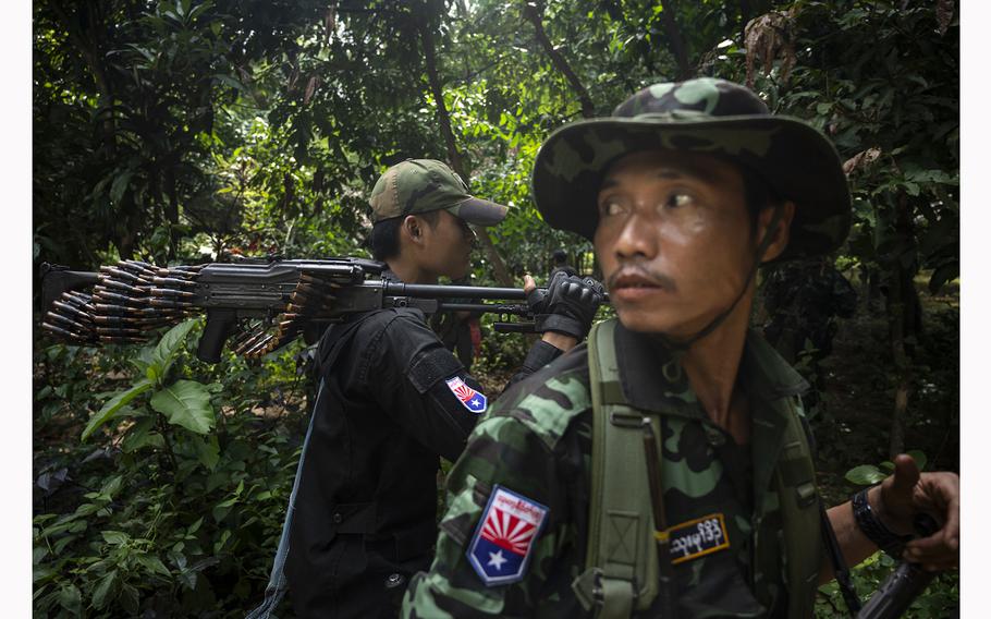
M 662 415 L 669 525 L 690 529 L 722 514 L 721 539 L 729 542 L 682 548 L 683 557 L 673 561 L 678 614 L 784 617 L 785 557 L 771 476 L 782 457 L 787 416 L 802 415 L 798 395 L 806 381 L 751 331 L 739 369 L 750 400 L 751 437 L 749 446 L 737 446 L 709 421 L 663 345 L 622 327 L 616 338 L 627 400 Z M 428 573 L 411 582 L 403 616 L 589 617 L 572 582 L 585 570 L 590 437 L 588 354 L 582 345 L 506 391 L 476 426 L 448 477 L 436 558 Z M 486 585 L 469 556 L 484 529 L 480 521 L 489 526 L 489 499 L 500 487 L 527 509 L 546 510 L 546 518 L 533 539 L 515 546 L 525 554 L 519 578 Z

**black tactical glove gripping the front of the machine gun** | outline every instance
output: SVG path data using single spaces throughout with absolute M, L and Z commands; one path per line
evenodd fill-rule
M 553 331 L 578 340 L 588 335 L 596 311 L 605 295 L 601 283 L 555 271 L 547 291 L 535 289 L 526 296 L 538 333 Z

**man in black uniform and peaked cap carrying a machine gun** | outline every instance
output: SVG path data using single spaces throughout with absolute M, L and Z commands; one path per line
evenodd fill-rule
M 389 265 L 384 278 L 407 283 L 463 277 L 468 223 L 492 226 L 506 213 L 426 159 L 387 170 L 370 202 L 372 253 Z M 561 276 L 542 300 L 531 294 L 543 336 L 511 383 L 583 339 L 600 293 L 594 280 Z M 317 363 L 319 392 L 272 580 L 249 617 L 270 616 L 286 585 L 298 617 L 395 617 L 407 578 L 431 560 L 439 457 L 458 457 L 491 395 L 414 308 L 334 325 Z

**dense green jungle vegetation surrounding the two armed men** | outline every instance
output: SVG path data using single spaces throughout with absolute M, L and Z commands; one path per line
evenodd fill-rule
M 841 500 L 896 451 L 958 466 L 958 66 L 953 0 L 36 0 L 35 267 L 365 255 L 377 175 L 433 157 L 514 207 L 476 282 L 546 274 L 559 247 L 592 268 L 530 203 L 541 141 L 653 82 L 749 82 L 834 139 L 855 195 L 831 264 L 860 301 L 831 355 L 795 353 Z M 302 345 L 199 363 L 200 328 L 146 349 L 36 340 L 39 614 L 260 599 L 313 386 Z M 488 335 L 482 380 L 524 348 Z M 861 595 L 890 569 L 858 570 Z M 944 615 L 956 586 L 941 576 L 914 615 Z M 821 615 L 843 609 L 824 587 Z

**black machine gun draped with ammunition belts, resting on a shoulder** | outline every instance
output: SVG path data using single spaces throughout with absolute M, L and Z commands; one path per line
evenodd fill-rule
M 299 336 L 316 342 L 328 325 L 347 314 L 384 307 L 533 318 L 525 303 L 506 303 L 523 301 L 523 289 L 411 284 L 381 279 L 384 270 L 384 264 L 363 258 L 245 259 L 169 268 L 121 260 L 99 272 L 46 263 L 41 327 L 75 344 L 144 342 L 154 328 L 206 312 L 196 355 L 217 363 L 228 340 L 236 354 L 257 359 Z M 495 329 L 526 332 L 534 324 L 500 321 Z

